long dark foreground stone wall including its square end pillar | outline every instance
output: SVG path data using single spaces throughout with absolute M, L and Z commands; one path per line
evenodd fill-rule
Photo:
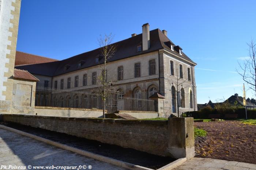
M 195 154 L 193 118 L 156 121 L 2 114 L 1 119 L 156 155 L 191 158 Z

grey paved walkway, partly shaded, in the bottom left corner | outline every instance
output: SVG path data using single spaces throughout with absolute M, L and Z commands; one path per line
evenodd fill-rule
M 1 167 L 6 165 L 7 168 Z M 94 160 L 71 151 L 36 141 L 0 128 L 0 169 L 12 166 L 83 166 L 93 170 L 123 170 L 106 162 Z M 14 168 L 17 169 L 17 168 Z M 40 169 L 43 169 L 42 167 Z M 82 168 L 83 170 L 83 168 Z

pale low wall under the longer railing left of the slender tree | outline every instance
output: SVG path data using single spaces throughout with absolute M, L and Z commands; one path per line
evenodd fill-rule
M 35 106 L 35 114 L 38 116 L 98 118 L 103 116 L 103 111 L 91 110 L 91 109 L 79 109 L 79 108 Z

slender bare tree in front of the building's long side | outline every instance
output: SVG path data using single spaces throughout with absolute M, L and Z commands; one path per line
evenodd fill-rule
M 114 36 L 110 33 L 109 35 L 100 36 L 99 49 L 101 51 L 101 56 L 99 56 L 99 64 L 101 68 L 101 74 L 98 76 L 98 93 L 103 100 L 103 117 L 105 118 L 105 110 L 106 110 L 106 99 L 109 97 L 113 89 L 113 81 L 107 78 L 108 72 L 106 70 L 106 66 L 108 64 L 108 60 L 112 58 L 114 53 L 116 52 L 116 46 L 112 44 Z

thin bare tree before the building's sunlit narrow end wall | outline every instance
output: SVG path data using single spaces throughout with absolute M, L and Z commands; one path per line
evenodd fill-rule
M 188 87 L 190 85 L 185 84 L 185 82 L 187 80 L 184 79 L 184 75 L 186 74 L 187 70 L 185 72 L 183 72 L 183 66 L 182 66 L 182 72 L 180 72 L 180 64 L 175 63 L 175 66 L 176 66 L 175 67 L 176 68 L 176 78 L 173 79 L 173 80 L 168 79 L 168 81 L 171 84 L 171 86 L 175 87 L 177 113 L 178 113 L 178 117 L 180 117 L 180 109 L 179 108 L 181 107 L 181 104 L 182 104 L 182 101 L 181 101 L 181 89 L 182 88 L 186 88 L 186 87 Z M 182 87 L 182 88 L 180 88 L 180 87 Z

